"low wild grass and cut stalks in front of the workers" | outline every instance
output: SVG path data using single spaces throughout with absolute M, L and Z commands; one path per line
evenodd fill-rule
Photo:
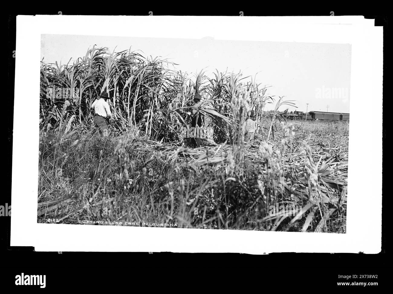
M 292 134 L 300 125 L 283 124 L 278 144 L 262 142 L 255 151 L 219 145 L 204 154 L 150 141 L 136 129 L 100 138 L 94 131 L 66 132 L 67 124 L 62 130 L 41 130 L 39 203 L 50 203 L 39 217 L 42 222 L 55 217 L 61 223 L 345 232 L 345 197 L 333 201 L 345 196 L 345 189 L 321 184 L 329 169 L 314 161 L 310 141 Z M 205 162 L 195 161 L 202 155 Z M 288 162 L 288 157 L 294 159 Z M 288 204 L 304 211 L 270 213 L 271 206 Z

